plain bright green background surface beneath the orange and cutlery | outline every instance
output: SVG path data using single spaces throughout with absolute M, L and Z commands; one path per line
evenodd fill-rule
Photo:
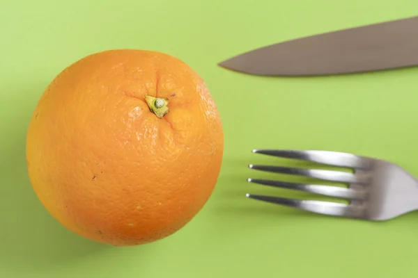
M 217 66 L 274 42 L 417 11 L 417 0 L 3 1 L 0 277 L 417 277 L 418 213 L 389 222 L 330 218 L 245 193 L 307 196 L 247 184 L 270 177 L 249 163 L 279 163 L 253 148 L 354 152 L 418 176 L 418 68 L 302 79 Z M 26 129 L 46 85 L 75 60 L 116 48 L 163 51 L 192 66 L 225 131 L 208 204 L 178 233 L 137 247 L 101 245 L 64 229 L 26 173 Z

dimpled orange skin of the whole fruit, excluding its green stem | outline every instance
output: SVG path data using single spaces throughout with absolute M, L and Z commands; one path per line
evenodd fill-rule
M 144 97 L 169 99 L 159 118 Z M 64 227 L 139 245 L 187 224 L 215 188 L 224 133 L 203 79 L 155 51 L 86 56 L 47 87 L 26 138 L 33 190 Z

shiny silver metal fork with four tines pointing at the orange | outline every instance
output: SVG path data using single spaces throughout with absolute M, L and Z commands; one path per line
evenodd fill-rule
M 347 167 L 353 172 L 251 164 L 249 168 L 253 170 L 346 183 L 348 186 L 344 188 L 269 179 L 248 179 L 250 183 L 346 199 L 348 204 L 247 194 L 246 196 L 251 199 L 299 208 L 312 213 L 364 220 L 389 220 L 418 209 L 417 179 L 394 163 L 344 152 L 282 149 L 254 149 L 253 152 L 323 165 Z

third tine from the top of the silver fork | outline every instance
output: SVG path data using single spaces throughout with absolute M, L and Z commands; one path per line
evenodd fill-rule
M 258 183 L 264 186 L 273 186 L 277 188 L 286 188 L 291 190 L 300 190 L 304 192 L 337 197 L 343 199 L 355 199 L 361 200 L 366 197 L 366 194 L 361 190 L 354 190 L 353 188 L 341 188 L 338 186 L 324 186 L 318 184 L 304 184 L 304 183 L 291 183 L 284 181 L 272 181 L 269 179 L 248 179 L 251 183 Z

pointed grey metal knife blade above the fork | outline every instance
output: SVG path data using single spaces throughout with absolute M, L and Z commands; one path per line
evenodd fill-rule
M 418 65 L 418 17 L 280 42 L 219 65 L 265 76 L 321 76 L 414 67 Z

